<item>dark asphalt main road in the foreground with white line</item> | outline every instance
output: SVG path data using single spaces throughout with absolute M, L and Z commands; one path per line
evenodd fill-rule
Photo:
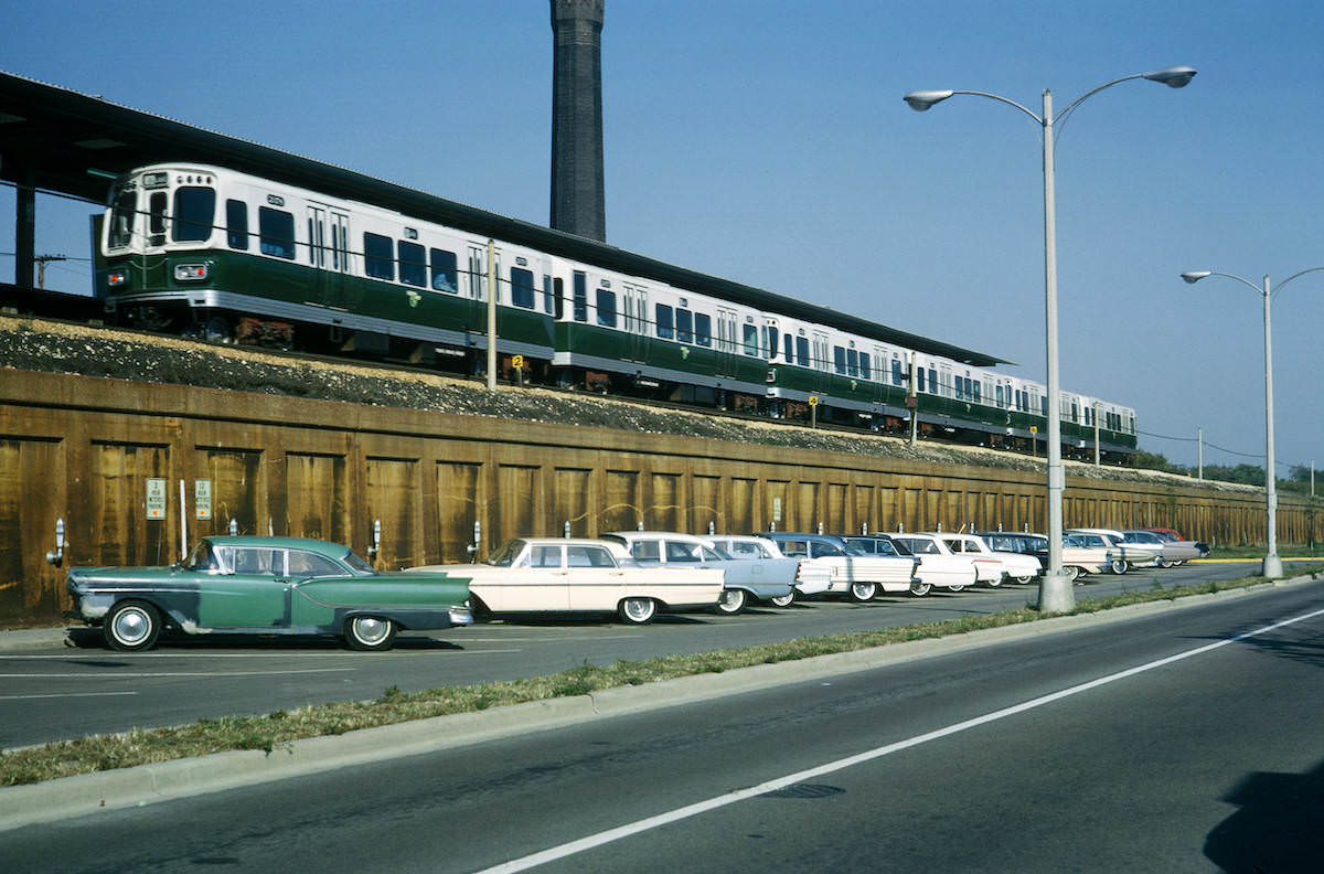
M 1321 640 L 1319 585 L 1221 599 L 29 826 L 0 870 L 1315 871 Z

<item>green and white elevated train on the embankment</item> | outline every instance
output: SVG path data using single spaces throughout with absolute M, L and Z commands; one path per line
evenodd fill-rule
M 545 384 L 892 433 L 908 429 L 914 354 L 925 436 L 1043 440 L 1043 387 L 994 372 L 998 359 L 575 241 L 567 254 L 222 167 L 155 164 L 113 188 L 97 282 L 124 324 L 469 372 L 486 358 L 495 293 L 507 376 L 520 355 Z M 1096 425 L 1108 461 L 1135 454 L 1133 409 L 1062 395 L 1066 454 L 1092 456 Z

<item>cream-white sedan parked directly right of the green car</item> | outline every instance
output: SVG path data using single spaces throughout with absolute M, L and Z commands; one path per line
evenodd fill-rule
M 489 613 L 616 613 L 645 625 L 661 609 L 715 607 L 724 572 L 642 567 L 616 540 L 518 538 L 482 564 L 434 564 L 410 573 L 469 577 L 474 608 Z

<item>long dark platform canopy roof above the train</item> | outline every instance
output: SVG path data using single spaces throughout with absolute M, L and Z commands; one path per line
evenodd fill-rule
M 964 364 L 1012 363 L 12 73 L 0 73 L 0 177 L 98 203 L 105 203 L 110 179 L 135 167 L 228 167 Z

